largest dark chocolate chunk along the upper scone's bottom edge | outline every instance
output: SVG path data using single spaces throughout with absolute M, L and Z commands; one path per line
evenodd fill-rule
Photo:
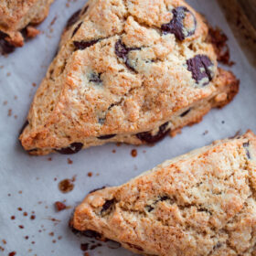
M 168 122 L 162 124 L 159 127 L 158 133 L 156 133 L 155 135 L 152 135 L 152 132 L 144 132 L 144 133 L 137 133 L 136 136 L 138 139 L 140 139 L 141 141 L 147 144 L 155 144 L 161 141 L 162 139 L 164 139 L 165 135 L 167 135 L 167 133 L 170 132 L 170 129 L 166 129 L 167 126 L 168 126 Z

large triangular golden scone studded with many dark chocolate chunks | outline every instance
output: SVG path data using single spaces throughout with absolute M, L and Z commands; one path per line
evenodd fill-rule
M 207 25 L 184 1 L 89 1 L 69 19 L 22 145 L 45 155 L 155 143 L 201 121 L 239 89 L 232 73 L 217 68 L 207 37 Z

